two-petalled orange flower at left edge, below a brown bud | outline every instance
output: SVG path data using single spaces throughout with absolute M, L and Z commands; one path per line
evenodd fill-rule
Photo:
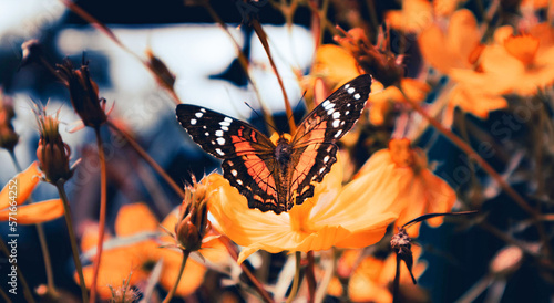
M 0 191 L 0 221 L 17 218 L 18 224 L 34 224 L 54 220 L 63 216 L 63 203 L 60 199 L 20 206 L 31 196 L 39 184 L 40 176 L 37 161 L 13 177 Z

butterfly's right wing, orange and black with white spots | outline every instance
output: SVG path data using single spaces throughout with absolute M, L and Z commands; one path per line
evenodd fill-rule
M 371 76 L 360 75 L 335 91 L 300 123 L 291 142 L 296 165 L 289 180 L 289 192 L 296 195 L 297 205 L 314 196 L 311 182 L 320 182 L 337 161 L 335 143 L 358 121 L 370 91 Z

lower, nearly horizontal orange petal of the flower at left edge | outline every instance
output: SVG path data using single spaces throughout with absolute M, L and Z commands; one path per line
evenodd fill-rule
M 14 211 L 18 224 L 35 224 L 51 221 L 63 216 L 63 203 L 60 199 L 45 200 L 32 205 L 20 206 Z M 0 221 L 8 221 L 10 209 L 0 211 Z

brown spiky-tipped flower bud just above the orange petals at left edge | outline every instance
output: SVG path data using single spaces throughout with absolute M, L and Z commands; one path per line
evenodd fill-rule
M 68 180 L 73 175 L 69 166 L 70 148 L 63 143 L 59 133 L 58 114 L 48 116 L 45 107 L 38 104 L 34 108 L 39 124 L 40 139 L 37 148 L 39 167 L 44 174 L 47 181 L 57 184 L 59 180 Z

